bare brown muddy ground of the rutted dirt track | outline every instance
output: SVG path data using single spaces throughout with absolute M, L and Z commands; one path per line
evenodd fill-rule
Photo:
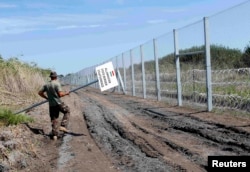
M 71 110 L 70 132 L 52 140 L 48 104 L 32 109 L 27 114 L 35 122 L 18 126 L 25 156 L 2 165 L 3 171 L 199 172 L 207 171 L 210 155 L 250 155 L 246 115 L 204 112 L 92 88 L 63 101 Z

